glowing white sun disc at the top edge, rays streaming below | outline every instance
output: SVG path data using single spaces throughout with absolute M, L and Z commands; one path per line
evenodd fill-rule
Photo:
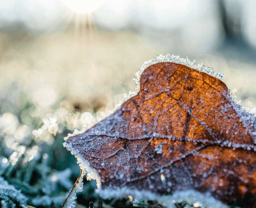
M 99 8 L 103 0 L 62 0 L 63 3 L 66 4 L 68 8 L 73 10 L 76 13 L 91 13 L 95 11 L 97 8 Z

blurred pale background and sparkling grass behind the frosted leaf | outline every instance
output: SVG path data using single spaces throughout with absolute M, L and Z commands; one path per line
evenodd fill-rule
M 1 0 L 1 176 L 26 203 L 59 206 L 79 175 L 63 137 L 108 115 L 156 55 L 224 73 L 235 100 L 256 107 L 255 8 L 254 0 Z M 77 206 L 97 204 L 92 193 Z M 3 207 L 21 203 L 9 199 Z

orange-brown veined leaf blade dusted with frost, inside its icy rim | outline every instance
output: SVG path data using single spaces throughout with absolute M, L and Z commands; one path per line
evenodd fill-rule
M 214 74 L 213 74 L 214 75 Z M 194 190 L 256 205 L 256 121 L 209 73 L 155 63 L 137 95 L 66 144 L 98 175 L 105 197 Z

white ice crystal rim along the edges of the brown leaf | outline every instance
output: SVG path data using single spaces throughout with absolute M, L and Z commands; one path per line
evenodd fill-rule
M 119 103 L 111 110 L 106 112 L 106 114 L 104 116 L 102 116 L 100 119 L 94 120 L 92 123 L 90 123 L 89 125 L 87 125 L 85 128 L 81 129 L 80 131 L 75 129 L 73 134 L 68 134 L 67 137 L 64 138 L 64 140 L 66 141 L 69 137 L 77 135 L 77 134 L 83 134 L 87 129 L 90 129 L 90 127 L 94 126 L 96 123 L 100 122 L 101 120 L 103 120 L 104 118 L 107 118 L 108 116 L 110 116 L 113 112 L 115 112 L 125 101 L 129 100 L 131 97 L 137 95 L 137 93 L 140 90 L 140 77 L 142 75 L 142 73 L 144 72 L 144 70 L 146 68 L 148 68 L 151 65 L 154 65 L 156 63 L 166 63 L 166 62 L 171 62 L 171 63 L 178 63 L 178 64 L 182 64 L 185 65 L 187 67 L 193 68 L 195 70 L 198 70 L 200 72 L 204 72 L 206 74 L 209 74 L 211 76 L 214 76 L 218 79 L 224 79 L 224 74 L 223 73 L 216 73 L 214 71 L 213 68 L 211 67 L 206 67 L 205 65 L 203 65 L 203 63 L 196 65 L 195 61 L 191 61 L 188 57 L 186 58 L 181 58 L 179 56 L 175 56 L 175 55 L 170 55 L 170 54 L 166 54 L 165 56 L 160 55 L 160 56 L 156 56 L 156 59 L 150 59 L 148 61 L 145 61 L 143 63 L 143 65 L 141 66 L 140 70 L 137 71 L 136 73 L 134 73 L 135 78 L 133 79 L 135 81 L 136 84 L 136 89 L 135 91 L 129 91 L 128 94 L 125 94 L 124 97 L 119 101 Z M 233 93 L 236 91 L 236 89 L 232 90 L 231 94 L 230 94 L 230 99 L 232 99 L 238 106 L 239 105 L 239 101 L 235 101 L 234 98 L 231 98 L 231 96 L 233 95 Z M 250 109 L 247 107 L 243 107 L 240 106 L 240 109 L 242 111 L 245 111 L 247 113 L 250 113 L 252 116 L 256 117 L 256 109 Z M 240 112 L 241 112 L 240 110 Z M 185 201 L 187 204 L 193 204 L 195 202 L 200 203 L 201 207 L 212 207 L 212 208 L 226 208 L 229 207 L 227 205 L 224 205 L 222 202 L 214 199 L 210 193 L 200 193 L 200 192 L 196 192 L 195 190 L 187 190 L 187 191 L 179 191 L 174 193 L 173 195 L 164 195 L 164 196 L 160 196 L 160 195 L 156 195 L 151 193 L 150 191 L 140 191 L 140 190 L 130 190 L 127 189 L 126 187 L 122 187 L 116 190 L 113 189 L 104 189 L 101 190 L 101 181 L 100 181 L 100 177 L 98 176 L 98 174 L 96 173 L 96 171 L 93 170 L 93 168 L 90 167 L 90 165 L 88 164 L 88 162 L 86 162 L 82 156 L 80 156 L 79 152 L 77 150 L 75 150 L 72 147 L 71 143 L 63 143 L 64 147 L 67 148 L 67 150 L 71 151 L 71 154 L 75 155 L 75 157 L 77 158 L 77 163 L 79 163 L 80 168 L 83 170 L 83 174 L 82 176 L 87 173 L 87 180 L 91 180 L 94 179 L 96 180 L 96 184 L 97 184 L 97 190 L 96 192 L 99 193 L 100 195 L 103 195 L 105 198 L 113 198 L 113 197 L 122 197 L 123 195 L 127 194 L 131 194 L 136 198 L 136 199 L 142 199 L 142 198 L 148 198 L 150 200 L 157 200 L 159 203 L 161 203 L 162 205 L 166 206 L 166 207 L 175 207 L 174 203 L 176 202 L 182 202 Z M 83 177 L 81 177 L 82 180 Z M 80 183 L 82 185 L 82 183 Z M 73 201 L 76 199 L 75 197 L 75 193 L 76 192 L 80 192 L 82 191 L 82 186 L 79 185 L 79 187 L 77 187 L 77 190 L 74 192 L 74 196 L 72 196 Z M 207 202 L 205 201 L 207 199 Z M 71 202 L 71 199 L 70 199 Z M 69 203 L 68 203 L 69 204 Z M 74 207 L 74 202 L 71 202 L 71 204 L 69 204 L 67 207 Z

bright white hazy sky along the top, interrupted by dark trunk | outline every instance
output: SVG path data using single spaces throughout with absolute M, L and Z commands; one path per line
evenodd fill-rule
M 238 12 L 241 13 L 245 37 L 256 46 L 256 1 L 224 2 L 231 11 L 240 8 Z M 0 21 L 25 22 L 32 28 L 49 30 L 54 29 L 73 11 L 93 12 L 95 22 L 107 28 L 146 25 L 187 32 L 197 27 L 199 32 L 206 30 L 203 33 L 209 31 L 211 34 L 218 30 L 217 9 L 214 0 L 0 0 Z

